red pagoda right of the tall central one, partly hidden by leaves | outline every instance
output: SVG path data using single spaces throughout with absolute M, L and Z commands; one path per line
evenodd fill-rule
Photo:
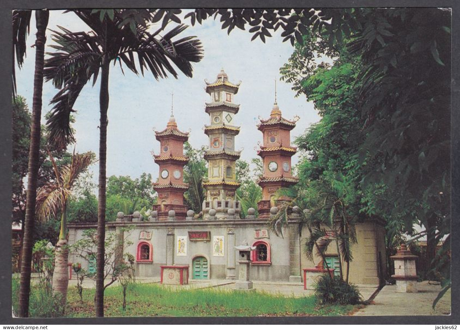
M 295 122 L 284 119 L 278 105 L 273 105 L 269 119 L 260 119 L 257 126 L 264 135 L 264 143 L 257 154 L 262 157 L 264 173 L 259 179 L 262 187 L 262 200 L 257 203 L 259 217 L 269 217 L 270 208 L 277 206 L 282 199 L 276 199 L 276 191 L 299 182 L 292 175 L 291 157 L 297 149 L 291 146 L 291 130 Z

